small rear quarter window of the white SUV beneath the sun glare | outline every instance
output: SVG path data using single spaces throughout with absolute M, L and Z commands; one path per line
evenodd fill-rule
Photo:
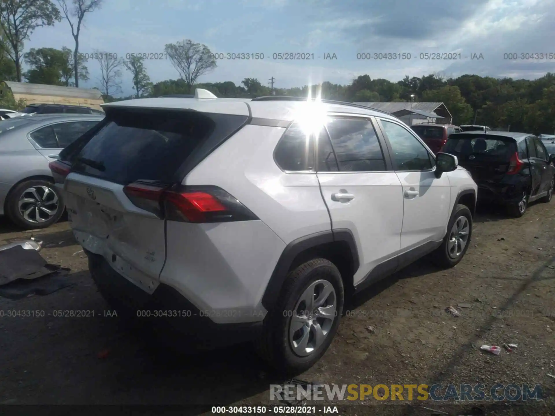
M 314 137 L 296 121 L 287 128 L 276 146 L 274 159 L 285 171 L 301 172 L 314 169 Z

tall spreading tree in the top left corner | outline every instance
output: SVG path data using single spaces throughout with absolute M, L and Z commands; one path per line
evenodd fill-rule
M 22 79 L 23 41 L 29 39 L 34 29 L 54 26 L 60 20 L 60 13 L 51 0 L 0 0 L 0 27 L 6 40 L 4 52 L 16 65 L 18 82 Z

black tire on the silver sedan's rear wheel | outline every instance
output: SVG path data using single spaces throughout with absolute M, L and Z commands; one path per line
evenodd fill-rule
M 37 200 L 36 202 L 39 203 L 38 209 L 32 210 L 27 216 L 27 219 L 19 210 L 19 201 L 23 198 L 24 194 L 26 194 L 26 191 L 29 189 L 34 189 L 36 191 L 36 194 L 41 199 L 44 195 L 45 189 L 48 189 L 49 192 L 53 192 L 53 194 L 48 194 L 46 200 Z M 50 195 L 56 196 L 58 201 L 57 205 L 48 204 L 48 202 L 52 201 Z M 33 194 L 29 194 L 29 192 L 27 192 L 27 196 L 27 199 L 29 200 L 36 199 L 36 197 Z M 23 209 L 27 209 L 27 207 L 32 208 L 33 206 L 33 202 L 24 202 L 24 204 L 22 205 Z M 54 206 L 56 206 L 55 213 L 50 216 L 46 214 L 46 211 L 41 210 L 41 206 L 44 209 L 49 209 L 50 211 L 54 211 L 53 208 Z M 9 219 L 12 220 L 12 222 L 18 227 L 21 227 L 25 230 L 43 229 L 51 226 L 52 224 L 58 222 L 64 212 L 64 209 L 65 207 L 62 194 L 58 191 L 56 186 L 54 186 L 52 182 L 41 179 L 33 179 L 21 182 L 21 184 L 17 185 L 9 192 L 8 199 L 6 201 L 6 214 L 8 215 Z M 41 218 L 41 220 L 43 220 L 42 222 L 33 221 L 33 219 L 36 219 L 37 211 L 39 212 L 39 217 Z

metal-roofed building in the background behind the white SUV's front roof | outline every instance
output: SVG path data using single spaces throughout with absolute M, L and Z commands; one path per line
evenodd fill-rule
M 445 123 L 451 124 L 453 116 L 447 110 L 443 103 L 354 103 L 376 108 L 378 110 L 387 111 L 387 113 L 396 115 L 408 125 L 418 123 Z

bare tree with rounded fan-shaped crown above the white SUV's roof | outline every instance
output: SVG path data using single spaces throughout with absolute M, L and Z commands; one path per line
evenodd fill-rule
M 168 43 L 165 45 L 165 52 L 171 64 L 178 70 L 179 76 L 185 80 L 189 92 L 201 75 L 212 72 L 218 66 L 210 49 L 204 44 L 194 43 L 191 39 Z

